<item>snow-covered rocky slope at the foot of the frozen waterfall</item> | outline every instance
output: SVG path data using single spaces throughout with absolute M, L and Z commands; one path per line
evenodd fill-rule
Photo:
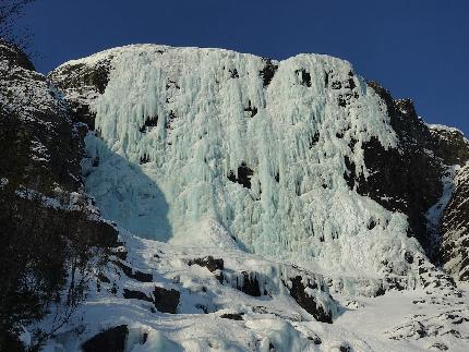
M 457 296 L 419 287 L 375 298 L 333 290 L 333 296 L 328 296 L 316 291 L 316 298 L 334 314 L 333 324 L 320 323 L 297 304 L 288 290 L 287 278 L 298 272 L 306 277 L 311 275 L 308 270 L 233 247 L 201 248 L 129 233 L 121 236 L 129 253 L 124 262 L 118 257 L 113 260 L 132 264 L 133 275 L 151 275 L 152 281 L 128 277 L 121 266 L 110 264 L 101 274 L 109 282 L 101 279 L 99 290 L 97 282 L 92 283 L 85 303 L 45 351 L 80 351 L 93 336 L 122 325 L 129 329 L 125 351 L 134 352 L 426 351 L 437 347 L 467 351 L 469 345 L 466 290 Z M 223 269 L 212 272 L 191 264 L 191 259 L 209 255 L 224 258 Z M 242 271 L 256 277 L 262 295 L 252 296 L 237 288 Z M 327 281 L 316 278 L 318 282 Z M 155 287 L 180 292 L 177 314 L 155 309 Z M 142 292 L 148 300 L 125 299 L 125 290 Z M 50 319 L 41 326 L 52 326 Z

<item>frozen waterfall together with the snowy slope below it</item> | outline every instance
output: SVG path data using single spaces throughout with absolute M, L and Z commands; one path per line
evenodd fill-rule
M 467 288 L 408 238 L 406 216 L 350 186 L 382 174 L 366 141 L 406 144 L 347 62 L 131 46 L 49 77 L 96 126 L 86 191 L 119 246 L 65 325 L 53 311 L 38 323 L 55 331 L 45 351 L 103 336 L 123 351 L 467 351 Z M 436 240 L 452 170 L 426 213 Z

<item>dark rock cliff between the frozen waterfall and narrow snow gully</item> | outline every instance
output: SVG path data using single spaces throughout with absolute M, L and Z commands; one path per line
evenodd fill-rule
M 447 183 L 452 183 L 454 177 L 448 179 L 446 174 L 452 166 L 464 166 L 469 160 L 469 142 L 456 129 L 425 124 L 410 99 L 394 100 L 377 83 L 370 82 L 369 85 L 387 107 L 399 147 L 385 150 L 375 139 L 371 141 L 363 148 L 371 177 L 353 175 L 354 180 L 350 182 L 357 182 L 360 194 L 389 210 L 406 214 L 410 233 L 417 236 L 428 255 L 435 262 L 446 263 L 449 257 L 442 256 L 441 241 L 447 236 L 448 229 L 437 229 L 435 234 L 429 226 L 438 228 L 442 223 L 444 206 L 449 201 L 445 193 L 453 189 Z M 446 203 L 429 214 L 442 198 L 446 198 Z M 459 215 L 466 217 L 462 213 Z

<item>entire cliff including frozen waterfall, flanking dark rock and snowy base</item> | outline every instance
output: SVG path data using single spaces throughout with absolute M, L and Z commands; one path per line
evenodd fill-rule
M 465 350 L 457 130 L 326 56 L 142 45 L 44 77 L 0 49 L 1 186 L 115 246 L 49 345 Z

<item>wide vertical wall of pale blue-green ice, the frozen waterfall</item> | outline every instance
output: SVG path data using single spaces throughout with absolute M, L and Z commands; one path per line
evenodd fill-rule
M 345 180 L 366 177 L 364 142 L 397 144 L 384 105 L 348 62 L 161 46 L 111 57 L 95 101 L 99 137 L 87 137 L 97 166 L 87 187 L 105 216 L 178 242 L 208 219 L 249 251 L 342 270 L 376 271 L 413 245 L 402 215 Z

